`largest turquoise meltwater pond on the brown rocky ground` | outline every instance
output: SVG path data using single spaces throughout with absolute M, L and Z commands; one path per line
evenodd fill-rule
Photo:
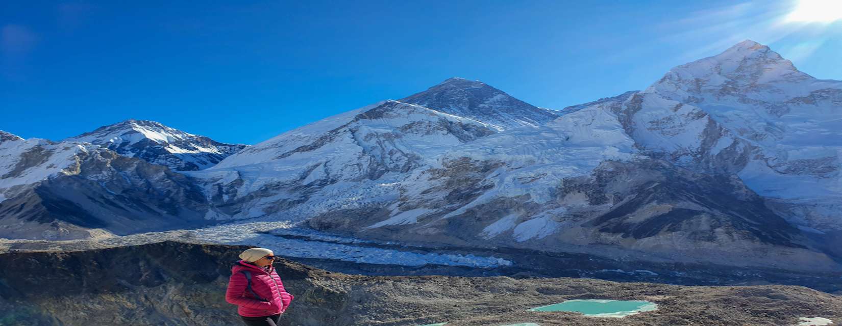
M 621 301 L 621 300 L 568 300 L 561 303 L 551 304 L 538 308 L 531 308 L 531 311 L 567 311 L 583 313 L 589 317 L 623 318 L 629 315 L 653 311 L 658 305 L 648 301 Z

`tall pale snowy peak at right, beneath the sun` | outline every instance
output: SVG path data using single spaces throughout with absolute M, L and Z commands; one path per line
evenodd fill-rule
M 736 173 L 782 205 L 830 205 L 790 216 L 829 223 L 822 216 L 834 215 L 827 207 L 842 197 L 842 81 L 809 76 L 747 40 L 673 68 L 624 105 L 638 147 Z

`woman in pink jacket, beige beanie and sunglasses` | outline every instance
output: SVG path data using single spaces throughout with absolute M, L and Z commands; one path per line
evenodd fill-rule
M 237 313 L 248 326 L 276 326 L 280 314 L 290 307 L 293 296 L 274 271 L 274 253 L 251 248 L 240 254 L 231 267 L 225 300 L 236 304 Z

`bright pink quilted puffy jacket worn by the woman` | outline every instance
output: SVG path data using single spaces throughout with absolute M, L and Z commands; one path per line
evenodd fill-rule
M 252 291 L 254 297 L 246 287 L 248 281 L 240 271 L 250 271 L 252 274 Z M 290 307 L 293 296 L 286 292 L 280 276 L 274 271 L 274 266 L 265 271 L 263 268 L 249 264 L 243 260 L 237 261 L 231 267 L 231 278 L 228 280 L 228 291 L 225 301 L 236 304 L 237 313 L 244 317 L 264 317 L 284 313 Z M 263 300 L 261 300 L 263 299 Z

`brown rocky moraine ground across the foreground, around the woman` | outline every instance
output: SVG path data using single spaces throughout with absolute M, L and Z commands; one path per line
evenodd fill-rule
M 225 302 L 230 266 L 247 247 L 163 242 L 0 255 L 0 325 L 242 325 Z M 5 268 L 9 266 L 9 268 Z M 805 287 L 680 287 L 594 279 L 349 276 L 279 260 L 296 296 L 280 325 L 443 323 L 593 325 L 575 313 L 527 312 L 570 299 L 648 300 L 618 325 L 779 325 L 842 319 L 842 298 Z

